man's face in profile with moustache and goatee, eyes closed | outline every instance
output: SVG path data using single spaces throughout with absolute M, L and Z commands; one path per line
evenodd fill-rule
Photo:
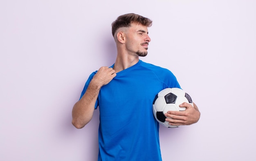
M 146 56 L 148 54 L 148 27 L 141 24 L 132 23 L 126 33 L 126 49 L 138 56 Z

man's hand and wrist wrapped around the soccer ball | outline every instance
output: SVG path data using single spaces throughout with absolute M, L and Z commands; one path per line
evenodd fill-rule
M 193 107 L 194 106 L 194 107 Z M 172 119 L 166 118 L 166 121 L 170 122 L 170 125 L 191 125 L 198 122 L 200 119 L 200 111 L 198 106 L 193 103 L 193 106 L 188 103 L 183 103 L 180 107 L 186 107 L 184 111 L 168 111 L 165 116 L 171 117 Z

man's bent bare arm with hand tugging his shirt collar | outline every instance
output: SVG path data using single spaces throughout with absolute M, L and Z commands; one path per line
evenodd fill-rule
M 115 70 L 103 66 L 92 78 L 83 97 L 74 104 L 72 110 L 72 124 L 76 128 L 83 128 L 94 112 L 94 106 L 102 86 L 108 84 L 116 76 Z

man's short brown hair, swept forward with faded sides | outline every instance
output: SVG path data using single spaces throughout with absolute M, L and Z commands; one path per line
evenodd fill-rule
M 115 32 L 120 27 L 130 27 L 131 23 L 138 23 L 144 26 L 150 27 L 152 25 L 152 20 L 145 18 L 141 15 L 137 15 L 135 13 L 127 13 L 124 15 L 120 15 L 117 20 L 112 22 L 112 35 L 115 35 Z

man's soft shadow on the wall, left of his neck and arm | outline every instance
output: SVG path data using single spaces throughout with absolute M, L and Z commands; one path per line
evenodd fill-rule
M 100 58 L 97 57 L 97 59 L 101 60 L 99 61 L 99 66 L 111 66 L 115 63 L 117 51 L 116 51 L 116 44 L 112 37 L 112 35 L 105 35 L 103 36 L 104 39 L 103 42 L 100 42 L 103 46 L 100 47 L 101 54 Z M 93 72 L 93 71 L 91 71 Z M 89 77 L 89 75 L 88 75 Z M 83 82 L 83 85 L 85 82 Z M 82 85 L 82 86 L 83 86 Z M 77 87 L 77 86 L 76 86 Z M 81 86 L 79 85 L 79 88 Z M 72 85 L 72 88 L 74 88 L 74 85 Z M 61 101 L 61 104 L 58 104 L 58 106 L 63 107 L 63 111 L 60 115 L 62 115 L 61 119 L 59 119 L 59 124 L 54 131 L 55 137 L 57 137 L 61 142 L 70 143 L 74 147 L 81 147 L 81 151 L 83 151 L 83 160 L 97 160 L 98 157 L 98 151 L 99 151 L 99 145 L 98 145 L 98 129 L 99 129 L 99 108 L 94 111 L 92 120 L 82 129 L 76 129 L 72 125 L 72 107 L 78 101 L 80 97 L 81 89 L 72 90 L 75 92 L 73 96 L 70 97 L 70 90 L 67 90 L 66 93 L 69 93 L 67 95 L 63 95 L 63 98 L 69 98 L 69 99 L 63 99 L 65 101 Z M 90 147 L 90 149 L 88 149 Z M 74 152 L 74 155 L 76 152 Z

